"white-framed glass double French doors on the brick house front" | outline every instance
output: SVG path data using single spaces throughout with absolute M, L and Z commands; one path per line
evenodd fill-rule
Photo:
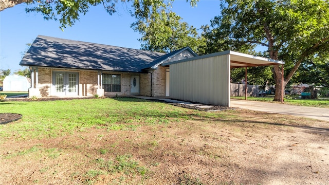
M 77 96 L 78 73 L 54 71 L 52 76 L 52 95 L 54 96 Z

